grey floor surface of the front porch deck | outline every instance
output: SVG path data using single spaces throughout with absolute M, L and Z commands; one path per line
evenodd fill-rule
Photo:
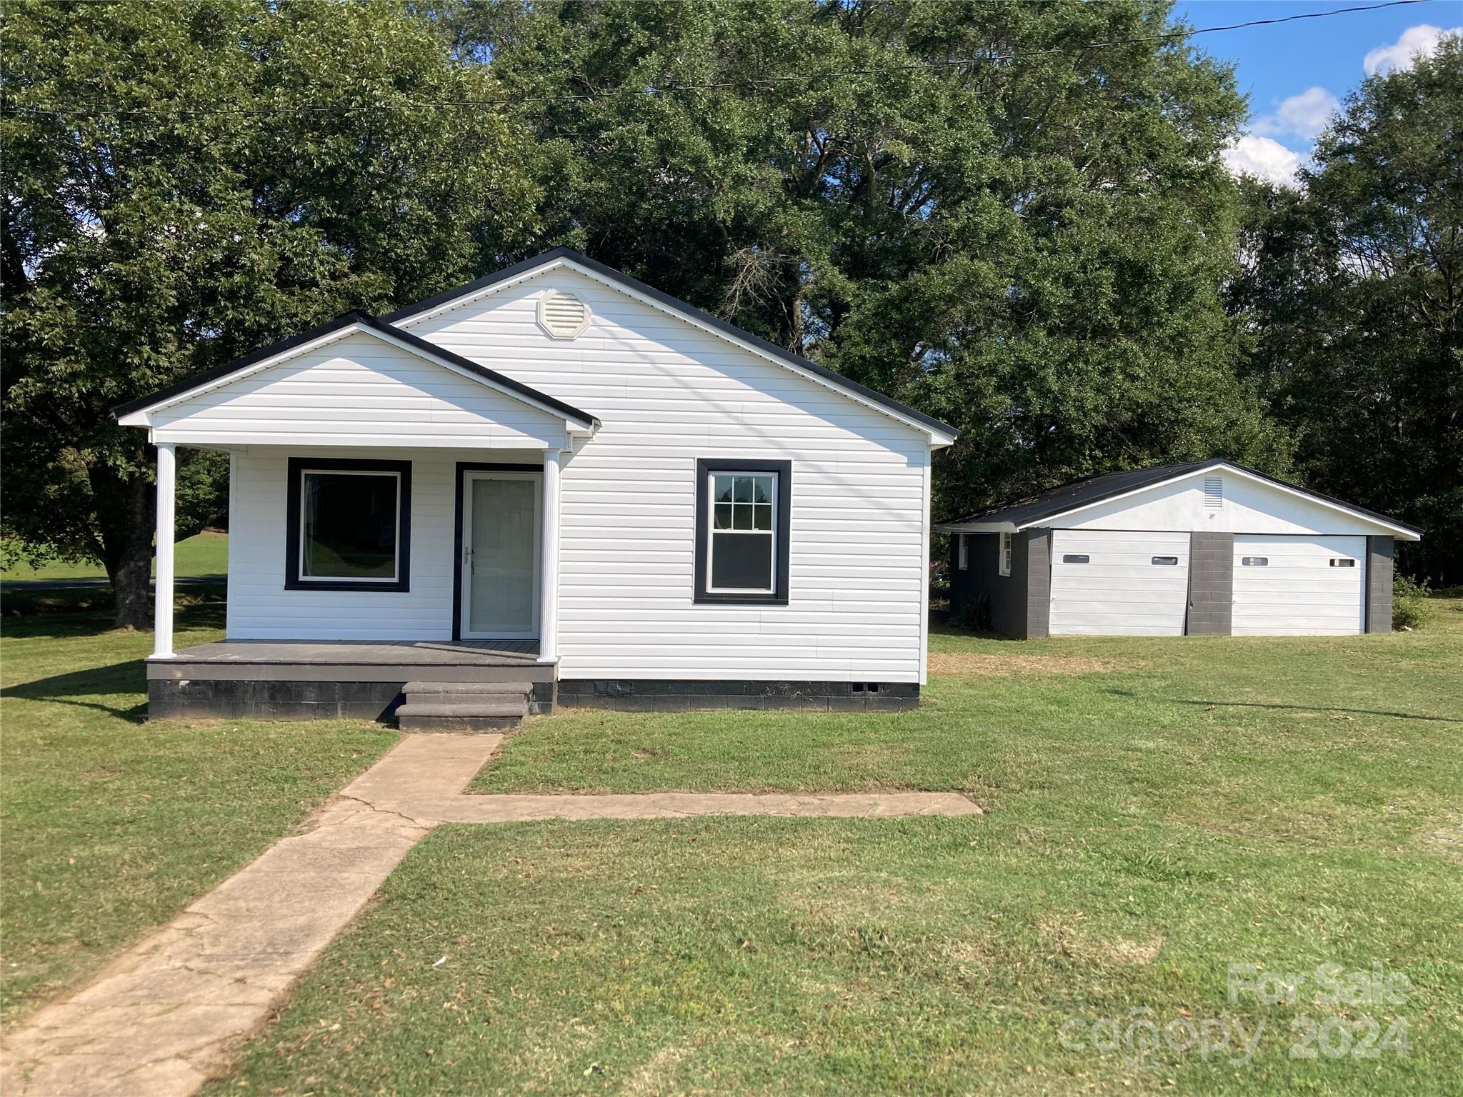
M 217 641 L 181 648 L 174 661 L 502 667 L 537 663 L 538 641 Z

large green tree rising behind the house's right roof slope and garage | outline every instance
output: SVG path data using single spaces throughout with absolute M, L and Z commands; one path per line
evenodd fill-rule
M 433 12 L 544 149 L 544 243 L 958 426 L 936 510 L 1165 459 L 1285 470 L 1219 291 L 1244 102 L 1151 39 L 1166 4 Z

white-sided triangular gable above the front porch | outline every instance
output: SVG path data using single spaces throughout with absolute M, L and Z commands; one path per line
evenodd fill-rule
M 152 424 L 157 440 L 183 445 L 565 445 L 562 418 L 358 332 L 157 411 Z

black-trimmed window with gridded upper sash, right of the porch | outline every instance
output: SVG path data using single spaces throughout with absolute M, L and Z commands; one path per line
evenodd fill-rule
M 696 462 L 698 603 L 787 604 L 789 461 Z

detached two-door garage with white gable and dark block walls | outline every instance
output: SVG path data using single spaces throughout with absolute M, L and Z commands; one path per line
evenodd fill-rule
M 1064 484 L 944 522 L 951 608 L 1008 636 L 1391 630 L 1418 531 L 1227 461 Z

